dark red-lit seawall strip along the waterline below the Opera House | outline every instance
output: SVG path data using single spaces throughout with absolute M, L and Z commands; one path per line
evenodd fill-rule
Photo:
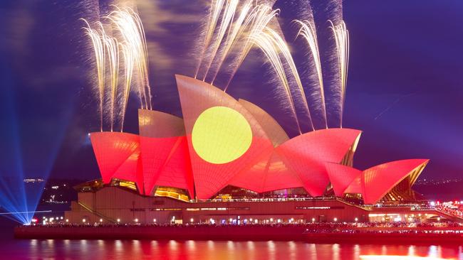
M 217 241 L 302 241 L 315 244 L 463 244 L 463 233 L 450 229 L 336 229 L 312 232 L 306 227 L 257 226 L 110 226 L 15 227 L 15 239 L 156 239 Z M 420 230 L 418 232 L 418 230 Z M 447 230 L 447 232 L 446 232 Z M 452 229 L 455 230 L 455 229 Z M 457 229 L 459 231 L 459 229 Z M 432 233 L 429 233 L 429 232 Z M 425 233 L 428 232 L 428 233 Z M 438 232 L 438 233 L 437 233 Z

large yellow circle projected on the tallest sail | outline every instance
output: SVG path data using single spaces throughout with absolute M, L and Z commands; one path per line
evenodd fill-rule
M 210 107 L 194 122 L 192 144 L 204 161 L 229 163 L 251 146 L 252 131 L 248 121 L 229 107 Z

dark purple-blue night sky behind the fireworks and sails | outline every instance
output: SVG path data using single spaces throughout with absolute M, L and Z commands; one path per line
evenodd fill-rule
M 152 104 L 180 116 L 174 74 L 193 73 L 192 46 L 207 1 L 137 2 L 147 33 Z M 98 9 L 108 11 L 108 3 L 99 7 L 95 1 L 1 1 L 0 173 L 98 178 L 87 136 L 99 130 L 90 87 L 93 57 L 78 19 L 95 21 Z M 279 0 L 276 7 L 300 62 L 301 41 L 293 41 L 295 28 L 289 21 L 298 18 L 303 6 Z M 462 11 L 459 0 L 344 2 L 350 67 L 343 126 L 363 131 L 355 167 L 430 158 L 421 178 L 459 178 L 463 173 Z M 328 32 L 326 10 L 314 8 L 314 13 L 318 30 Z M 320 44 L 324 52 L 331 42 Z M 229 94 L 263 107 L 294 136 L 296 126 L 281 112 L 270 77 L 254 51 Z M 131 99 L 129 132 L 137 132 L 137 106 L 137 99 Z

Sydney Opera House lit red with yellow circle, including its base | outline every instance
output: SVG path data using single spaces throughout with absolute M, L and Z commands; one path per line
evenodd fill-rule
M 358 170 L 361 131 L 289 139 L 255 104 L 176 79 L 183 118 L 140 109 L 139 134 L 90 134 L 101 180 L 76 187 L 67 222 L 392 221 L 420 201 L 412 185 L 427 159 Z

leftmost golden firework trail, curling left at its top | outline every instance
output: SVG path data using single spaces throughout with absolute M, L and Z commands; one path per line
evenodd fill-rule
M 105 47 L 103 39 L 95 29 L 90 28 L 90 24 L 85 19 L 81 19 L 87 24 L 84 27 L 85 34 L 90 37 L 95 52 L 95 64 L 98 75 L 98 98 L 100 101 L 100 131 L 103 131 L 103 99 L 105 95 Z M 102 34 L 104 33 L 103 24 L 97 22 Z

